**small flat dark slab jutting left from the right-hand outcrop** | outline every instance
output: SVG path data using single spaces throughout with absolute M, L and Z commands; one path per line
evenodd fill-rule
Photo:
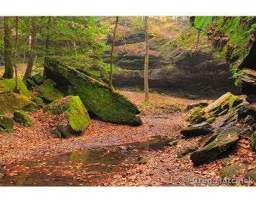
M 212 126 L 209 123 L 199 123 L 193 126 L 188 126 L 187 128 L 181 129 L 181 135 L 186 138 L 196 135 L 206 135 L 212 132 Z

